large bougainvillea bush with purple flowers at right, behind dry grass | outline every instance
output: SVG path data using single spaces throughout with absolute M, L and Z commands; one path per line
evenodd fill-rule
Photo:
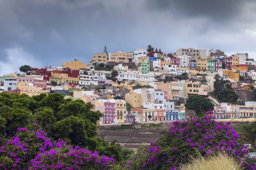
M 173 122 L 159 140 L 123 166 L 127 170 L 175 170 L 187 161 L 220 151 L 237 159 L 244 158 L 247 150 L 229 124 L 215 122 L 211 115 Z

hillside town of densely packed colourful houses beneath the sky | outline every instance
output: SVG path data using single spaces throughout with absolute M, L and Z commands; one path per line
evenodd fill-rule
M 248 53 L 227 56 L 219 49 L 207 53 L 180 48 L 166 54 L 151 45 L 109 53 L 105 47 L 89 61 L 74 59 L 40 68 L 24 65 L 20 71 L 24 74 L 0 77 L 0 92 L 29 96 L 58 92 L 66 99 L 91 102 L 94 111 L 104 115 L 101 125 L 192 119 L 196 111 L 185 104 L 193 95 L 209 99 L 216 119 L 256 116 L 256 62 Z M 217 79 L 228 82 L 230 94 L 237 98 L 215 93 Z

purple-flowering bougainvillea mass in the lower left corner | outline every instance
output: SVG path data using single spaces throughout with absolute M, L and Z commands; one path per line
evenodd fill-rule
M 0 139 L 1 140 L 1 139 Z M 80 147 L 71 147 L 60 139 L 52 142 L 43 130 L 28 131 L 19 127 L 14 137 L 0 146 L 0 169 L 8 170 L 76 170 L 108 169 L 113 167 L 113 158 L 99 156 Z

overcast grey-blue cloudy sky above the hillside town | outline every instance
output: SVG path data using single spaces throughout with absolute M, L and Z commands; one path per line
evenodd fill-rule
M 256 59 L 256 1 L 0 0 L 0 75 L 149 44 Z

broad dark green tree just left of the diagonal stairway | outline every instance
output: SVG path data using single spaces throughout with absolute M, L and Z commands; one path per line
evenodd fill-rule
M 194 110 L 197 115 L 200 115 L 202 111 L 213 111 L 214 105 L 210 101 L 210 99 L 206 99 L 205 97 L 199 95 L 189 96 L 186 100 L 185 107 L 189 110 Z

